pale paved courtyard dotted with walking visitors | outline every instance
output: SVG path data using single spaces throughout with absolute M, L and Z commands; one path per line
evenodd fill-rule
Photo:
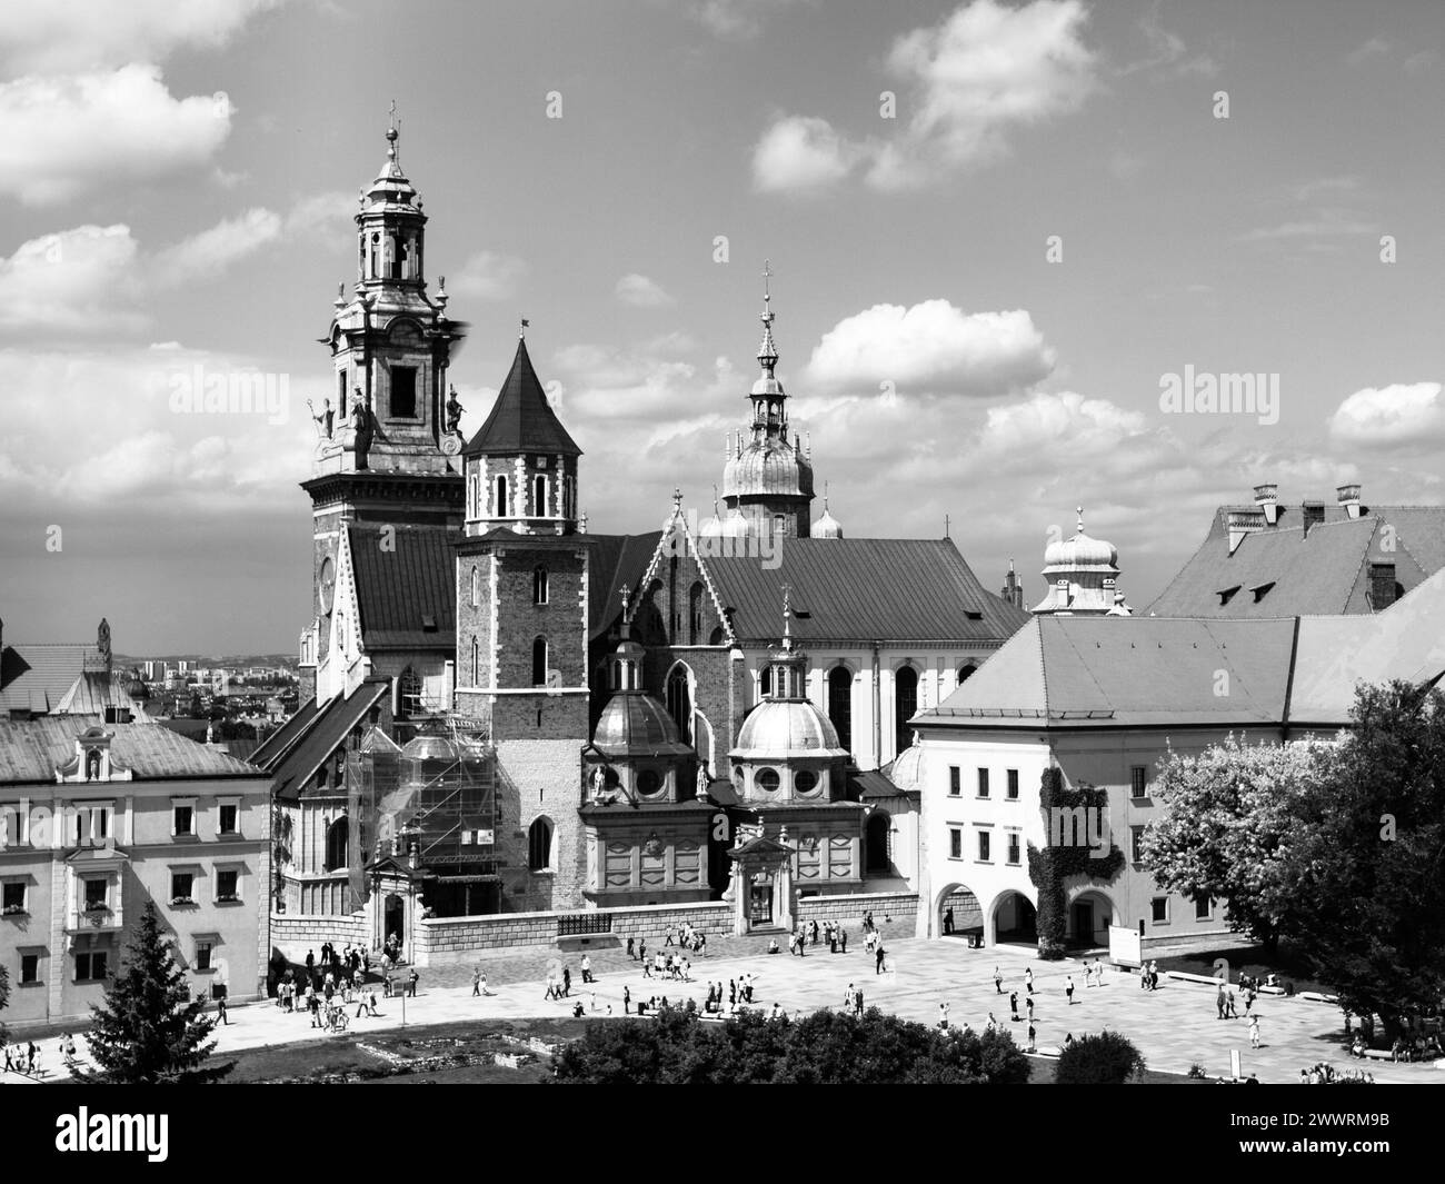
M 896 927 L 902 931 L 902 925 Z M 715 945 L 705 958 L 695 958 L 692 983 L 644 979 L 642 967 L 627 958 L 623 950 L 591 953 L 595 984 L 582 983 L 578 969 L 579 954 L 553 950 L 513 950 L 490 953 L 480 958 L 491 996 L 474 998 L 471 974 L 475 961 L 420 969 L 416 999 L 405 1000 L 407 1026 L 488 1019 L 526 1019 L 532 1016 L 569 1016 L 581 999 L 590 1013 L 623 1015 L 623 987 L 631 998 L 656 995 L 679 1003 L 688 998 L 701 1008 L 707 983 L 721 982 L 724 992 L 730 979 L 743 971 L 757 976 L 754 1006 L 772 1011 L 776 1000 L 789 1013 L 811 1012 L 818 1008 L 842 1005 L 850 983 L 863 989 L 864 1005 L 925 1024 L 938 1022 L 941 1002 L 949 1003 L 949 1018 L 955 1026 L 964 1022 L 981 1031 L 990 1012 L 998 1024 L 1026 1042 L 1027 1021 L 1010 1021 L 1009 992 L 1019 992 L 1019 1012 L 1025 1006 L 1025 969 L 1033 969 L 1035 1028 L 1040 1048 L 1056 1047 L 1065 1034 L 1075 1038 L 1085 1032 L 1111 1028 L 1127 1035 L 1149 1061 L 1149 1067 L 1166 1073 L 1185 1073 L 1191 1064 L 1204 1065 L 1209 1078 L 1228 1076 L 1230 1050 L 1240 1050 L 1244 1074 L 1256 1073 L 1261 1081 L 1298 1081 L 1299 1070 L 1327 1061 L 1335 1068 L 1360 1065 L 1345 1055 L 1340 1042 L 1342 1015 L 1328 1003 L 1295 998 L 1260 996 L 1263 1047 L 1248 1047 L 1248 1025 L 1244 1019 L 1221 1021 L 1215 1013 L 1215 989 L 1202 983 L 1160 979 L 1159 990 L 1139 987 L 1139 977 L 1123 970 L 1105 970 L 1103 987 L 1084 986 L 1084 963 L 1065 960 L 1039 961 L 1032 950 L 1000 945 L 990 950 L 970 950 L 964 941 L 923 941 L 910 937 L 886 940 L 890 970 L 876 973 L 874 958 L 861 943 L 850 943 L 848 954 L 829 954 L 822 944 L 808 947 L 805 957 L 767 954 L 766 944 L 756 938 L 709 940 Z M 649 947 L 653 950 L 657 947 Z M 572 970 L 572 998 L 561 1002 L 543 999 L 545 977 L 551 964 Z M 994 967 L 1004 979 L 1003 995 L 994 990 Z M 403 974 L 406 969 L 403 967 Z M 1065 977 L 1074 976 L 1074 1003 L 1065 998 Z M 595 1012 L 592 995 L 595 992 Z M 403 1000 L 380 999 L 379 1018 L 355 1019 L 355 1005 L 350 1034 L 392 1031 L 402 1026 Z M 1243 1009 L 1243 1005 L 1241 1005 Z M 273 1003 L 251 1003 L 230 1009 L 230 1025 L 217 1029 L 217 1051 L 231 1052 L 275 1044 L 324 1041 L 311 1028 L 303 1013 L 288 1015 Z M 77 1038 L 79 1055 L 88 1050 L 82 1037 Z M 59 1057 L 55 1038 L 43 1041 L 43 1063 L 56 1080 Z M 1432 1064 L 1366 1063 L 1377 1081 L 1445 1083 L 1445 1073 Z M 0 1076 L 0 1081 L 23 1081 L 14 1074 Z

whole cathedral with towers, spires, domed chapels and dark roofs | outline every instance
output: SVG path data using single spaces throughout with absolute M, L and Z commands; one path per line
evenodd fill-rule
M 597 533 L 526 321 L 490 413 L 460 432 L 448 373 L 465 327 L 445 279 L 428 282 L 394 127 L 355 223 L 302 481 L 302 707 L 253 756 L 273 778 L 276 909 L 366 911 L 380 943 L 410 902 L 467 917 L 715 901 L 737 853 L 779 836 L 803 896 L 913 886 L 907 721 L 1029 613 L 951 538 L 814 518 L 766 283 L 721 505 L 698 522 L 676 493 L 660 531 Z M 753 919 L 777 919 L 751 892 Z

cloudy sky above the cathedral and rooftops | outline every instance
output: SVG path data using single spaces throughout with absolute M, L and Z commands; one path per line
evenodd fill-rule
M 1139 609 L 1257 483 L 1445 497 L 1438 0 L 7 4 L 6 640 L 295 651 L 393 100 L 462 431 L 526 317 L 592 531 L 711 512 L 764 259 L 815 516 L 946 518 L 1029 604 L 1079 505 Z M 178 409 L 195 367 L 285 399 Z M 1165 398 L 1235 373 L 1277 400 Z

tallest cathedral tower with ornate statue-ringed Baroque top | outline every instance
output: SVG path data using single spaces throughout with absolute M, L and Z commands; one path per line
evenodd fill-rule
M 448 367 L 467 327 L 447 315 L 445 279 L 428 291 L 426 214 L 402 172 L 399 140 L 393 116 L 386 159 L 358 201 L 355 283 L 350 295 L 345 285 L 338 291 L 321 338 L 331 353 L 332 393 L 321 406 L 308 400 L 316 442 L 302 489 L 312 502 L 314 596 L 301 677 L 302 701 L 315 692 L 318 707 L 347 690 L 342 668 L 379 672 L 358 662 L 379 638 L 366 636 L 363 606 L 348 603 L 377 564 L 342 552 L 381 548 L 406 559 L 394 564 L 409 568 L 394 572 L 403 588 L 419 577 L 412 559 L 445 554 L 462 526 L 461 406 Z M 350 623 L 338 622 L 348 607 Z M 419 633 L 420 617 L 436 614 L 416 616 Z M 435 620 L 431 627 L 442 632 Z M 394 639 L 402 630 L 387 632 Z M 338 645 L 347 652 L 332 653 Z

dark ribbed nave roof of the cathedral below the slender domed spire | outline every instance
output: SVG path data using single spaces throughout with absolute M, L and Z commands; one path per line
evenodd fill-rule
M 776 640 L 782 585 L 792 587 L 793 636 L 808 640 L 1001 640 L 1029 613 L 978 583 L 952 539 L 782 539 L 777 567 L 757 557 L 702 557 L 733 630 Z

